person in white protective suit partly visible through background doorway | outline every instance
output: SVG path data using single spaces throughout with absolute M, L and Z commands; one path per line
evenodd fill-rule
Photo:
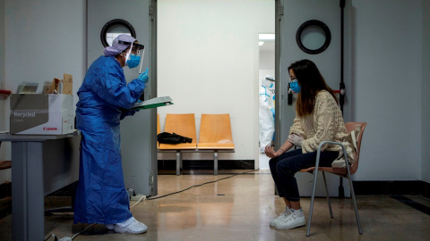
M 275 79 L 270 75 L 262 79 L 259 102 L 260 152 L 264 153 L 264 147 L 271 144 L 275 133 Z

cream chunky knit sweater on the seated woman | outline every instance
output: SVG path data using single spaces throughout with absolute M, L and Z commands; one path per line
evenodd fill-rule
M 342 112 L 333 96 L 326 90 L 316 95 L 314 111 L 300 118 L 296 115 L 294 123 L 289 129 L 289 134 L 296 133 L 305 138 L 302 142 L 302 152 L 316 152 L 318 145 L 323 141 L 344 142 L 348 136 L 348 130 L 343 122 Z M 354 156 L 354 148 L 348 148 L 348 143 L 343 143 L 349 156 Z M 349 144 L 350 145 L 350 144 Z M 340 145 L 326 144 L 322 151 L 340 151 Z

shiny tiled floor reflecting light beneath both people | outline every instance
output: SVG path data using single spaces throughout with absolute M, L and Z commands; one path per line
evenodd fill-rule
M 226 171 L 232 172 L 219 170 Z M 158 196 L 228 176 L 231 174 L 159 175 Z M 427 198 L 408 197 L 430 206 Z M 61 199 L 47 199 L 47 205 L 55 206 L 56 202 Z M 132 212 L 148 226 L 146 234 L 116 234 L 97 224 L 73 240 L 430 240 L 430 215 L 390 196 L 357 196 L 363 235 L 358 234 L 351 199 L 332 198 L 331 202 L 334 219 L 330 218 L 326 199 L 315 200 L 310 237 L 305 237 L 305 227 L 271 228 L 270 220 L 285 206 L 273 195 L 269 170 L 258 170 L 137 204 Z M 309 203 L 310 198 L 302 199 L 306 217 Z M 11 225 L 10 215 L 0 220 L 0 240 L 12 240 Z M 46 237 L 53 233 L 56 237 L 73 237 L 88 226 L 73 225 L 70 213 L 45 219 Z

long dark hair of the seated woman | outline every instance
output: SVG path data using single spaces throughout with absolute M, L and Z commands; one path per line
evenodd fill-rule
M 297 96 L 296 111 L 298 116 L 304 117 L 314 111 L 315 98 L 319 91 L 327 90 L 338 103 L 338 98 L 334 95 L 331 87 L 327 86 L 314 62 L 301 60 L 293 62 L 288 71 L 293 70 L 300 85 L 300 93 Z

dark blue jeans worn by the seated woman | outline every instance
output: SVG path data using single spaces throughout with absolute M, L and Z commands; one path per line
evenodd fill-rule
M 333 162 L 338 155 L 339 152 L 321 152 L 320 167 L 331 167 L 331 162 Z M 289 151 L 269 161 L 271 176 L 275 181 L 280 197 L 285 197 L 288 201 L 292 202 L 300 201 L 297 181 L 294 174 L 296 174 L 298 170 L 314 167 L 315 161 L 316 152 L 302 154 L 302 149 Z

